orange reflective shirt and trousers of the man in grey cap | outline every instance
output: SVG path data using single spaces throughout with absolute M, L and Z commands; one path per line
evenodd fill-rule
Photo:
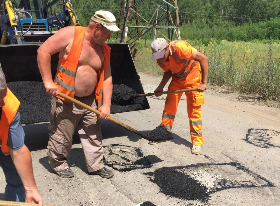
M 201 83 L 201 67 L 199 62 L 193 60 L 197 50 L 189 43 L 177 40 L 168 43 L 172 55 L 168 61 L 157 60 L 157 63 L 164 71 L 172 71 L 172 81 L 168 90 L 179 90 L 196 88 Z M 202 146 L 202 117 L 200 106 L 204 104 L 203 92 L 186 92 L 187 112 L 190 119 L 190 133 L 192 143 Z M 163 110 L 161 125 L 171 131 L 182 93 L 167 94 Z

